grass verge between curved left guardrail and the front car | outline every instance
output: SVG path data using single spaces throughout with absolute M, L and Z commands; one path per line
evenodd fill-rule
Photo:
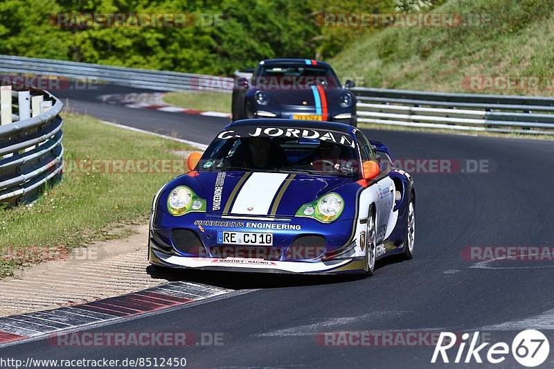
M 62 181 L 33 204 L 0 209 L 0 278 L 77 246 L 129 235 L 125 226 L 145 222 L 154 194 L 186 167 L 176 152 L 192 149 L 73 114 L 64 115 L 63 132 Z M 162 167 L 168 163 L 169 170 Z

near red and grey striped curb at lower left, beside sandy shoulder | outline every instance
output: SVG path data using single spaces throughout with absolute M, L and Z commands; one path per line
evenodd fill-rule
M 132 294 L 0 318 L 0 348 L 34 337 L 163 311 L 233 292 L 192 282 L 171 282 Z

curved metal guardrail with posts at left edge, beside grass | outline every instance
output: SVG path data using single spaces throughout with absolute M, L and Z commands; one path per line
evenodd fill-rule
M 32 201 L 62 175 L 63 104 L 46 91 L 0 87 L 0 204 Z

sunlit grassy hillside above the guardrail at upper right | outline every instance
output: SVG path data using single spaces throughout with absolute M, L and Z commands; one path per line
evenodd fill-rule
M 449 0 L 429 11 L 476 17 L 477 21 L 475 26 L 387 28 L 368 33 L 357 37 L 330 63 L 342 76 L 366 87 L 554 96 L 554 89 L 546 83 L 552 80 L 554 69 L 550 0 Z M 519 84 L 472 88 L 467 83 L 471 76 L 546 78 L 537 89 L 517 89 Z

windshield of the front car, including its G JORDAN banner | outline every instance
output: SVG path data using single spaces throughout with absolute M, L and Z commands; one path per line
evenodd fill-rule
M 208 146 L 199 171 L 252 170 L 357 177 L 355 139 L 343 132 L 290 127 L 231 127 Z

